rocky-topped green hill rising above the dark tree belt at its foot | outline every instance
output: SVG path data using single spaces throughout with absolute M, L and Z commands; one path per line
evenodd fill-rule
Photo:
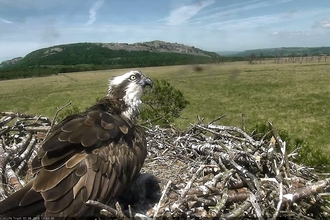
M 160 54 L 162 53 L 162 54 Z M 76 43 L 57 45 L 49 48 L 42 48 L 27 54 L 24 58 L 12 62 L 4 61 L 2 65 L 36 66 L 36 65 L 122 65 L 126 63 L 139 64 L 144 57 L 155 57 L 148 65 L 157 65 L 157 57 L 174 54 L 174 57 L 202 57 L 202 60 L 209 60 L 218 57 L 216 53 L 203 51 L 201 49 L 186 46 L 178 43 L 163 41 L 151 41 L 144 43 Z M 194 56 L 192 58 L 191 56 Z M 187 58 L 186 58 L 187 59 Z M 168 62 L 168 61 L 164 61 Z M 180 61 L 179 61 L 180 62 Z

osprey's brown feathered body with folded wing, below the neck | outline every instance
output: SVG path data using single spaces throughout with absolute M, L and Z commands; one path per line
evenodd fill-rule
M 94 110 L 55 127 L 33 163 L 36 178 L 21 206 L 40 192 L 49 216 L 88 216 L 87 200 L 115 199 L 146 157 L 143 132 L 118 115 Z

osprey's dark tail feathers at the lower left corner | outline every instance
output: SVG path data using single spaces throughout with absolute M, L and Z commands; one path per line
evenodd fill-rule
M 31 189 L 31 181 L 19 191 L 0 202 L 0 217 L 37 216 L 45 212 L 44 200 L 40 193 Z M 25 200 L 25 204 L 21 201 Z M 29 202 L 30 201 L 30 202 Z

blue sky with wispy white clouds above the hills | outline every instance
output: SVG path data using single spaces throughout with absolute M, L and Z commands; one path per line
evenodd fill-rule
M 329 0 L 0 0 L 0 62 L 57 44 L 330 46 Z

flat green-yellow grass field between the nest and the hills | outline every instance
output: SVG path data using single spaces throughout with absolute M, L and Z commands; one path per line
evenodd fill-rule
M 200 115 L 247 127 L 273 122 L 292 137 L 300 137 L 330 153 L 330 63 L 204 65 L 141 68 L 151 78 L 167 79 L 190 104 L 176 121 L 180 128 Z M 126 70 L 61 74 L 0 81 L 0 110 L 53 116 L 70 100 L 80 109 L 107 92 L 107 79 Z

